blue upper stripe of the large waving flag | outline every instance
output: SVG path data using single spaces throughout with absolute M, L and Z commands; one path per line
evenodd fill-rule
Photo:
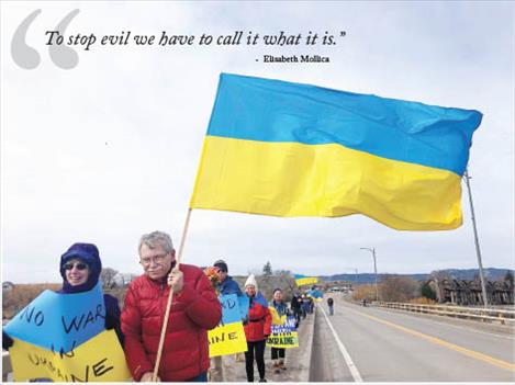
M 481 118 L 474 110 L 222 73 L 208 135 L 339 144 L 461 175 Z

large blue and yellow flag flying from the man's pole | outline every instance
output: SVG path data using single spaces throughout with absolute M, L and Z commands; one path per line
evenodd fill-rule
M 222 73 L 191 208 L 459 227 L 482 114 Z

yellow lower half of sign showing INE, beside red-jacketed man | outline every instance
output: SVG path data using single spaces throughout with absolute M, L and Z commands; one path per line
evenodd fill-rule
M 211 358 L 247 351 L 247 339 L 240 321 L 219 326 L 208 331 L 208 339 Z

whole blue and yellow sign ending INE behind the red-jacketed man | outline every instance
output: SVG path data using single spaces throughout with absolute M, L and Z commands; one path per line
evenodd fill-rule
M 240 299 L 242 297 L 246 298 Z M 242 317 L 248 313 L 247 296 L 236 294 L 219 297 L 222 305 L 222 320 L 220 325 L 208 332 L 210 356 L 227 355 L 247 351 L 247 340 L 242 324 Z M 240 305 L 245 306 L 240 308 Z

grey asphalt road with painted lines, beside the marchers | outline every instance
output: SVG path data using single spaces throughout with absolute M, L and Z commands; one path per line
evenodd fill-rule
M 513 328 L 501 332 L 333 297 L 334 316 L 328 316 L 325 301 L 316 313 L 310 381 L 515 381 Z

